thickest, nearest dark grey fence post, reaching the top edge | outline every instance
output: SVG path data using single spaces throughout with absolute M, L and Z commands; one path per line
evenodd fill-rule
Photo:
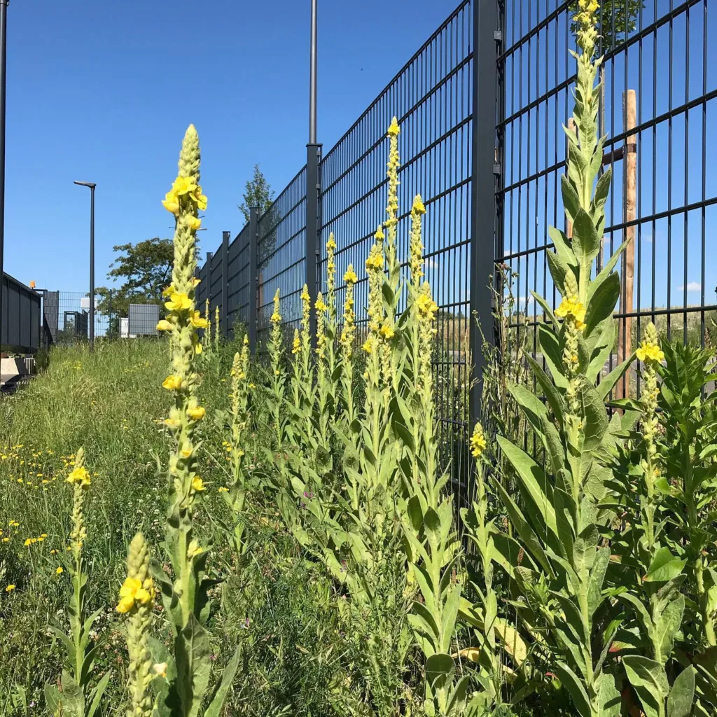
M 488 341 L 493 341 L 492 295 L 489 272 L 495 266 L 495 125 L 498 102 L 498 0 L 473 2 L 473 157 L 470 217 L 470 359 L 475 373 L 470 388 L 470 427 L 480 417 L 485 361 L 478 318 Z

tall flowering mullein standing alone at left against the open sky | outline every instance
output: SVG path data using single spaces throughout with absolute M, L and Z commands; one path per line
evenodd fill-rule
M 179 155 L 179 174 L 163 204 L 174 214 L 174 266 L 171 285 L 164 291 L 168 315 L 158 328 L 170 336 L 172 374 L 163 382 L 174 397 L 165 423 L 174 437 L 168 461 L 169 502 L 163 549 L 171 576 L 161 563 L 152 562 L 153 577 L 161 588 L 164 609 L 171 625 L 174 650 L 158 649 L 158 663 L 167 663 L 166 678 L 159 683 L 156 709 L 160 715 L 194 717 L 210 693 L 211 649 L 206 622 L 211 602 L 207 594 L 213 581 L 206 576 L 209 550 L 196 536 L 196 511 L 206 490 L 197 472 L 197 428 L 206 411 L 196 397 L 199 376 L 196 357 L 201 343 L 196 328 L 208 331 L 194 303 L 199 284 L 196 272 L 196 230 L 199 210 L 206 209 L 206 196 L 199 185 L 199 137 L 194 125 L 186 130 Z M 232 685 L 239 652 L 227 665 L 214 689 L 205 716 L 217 716 Z

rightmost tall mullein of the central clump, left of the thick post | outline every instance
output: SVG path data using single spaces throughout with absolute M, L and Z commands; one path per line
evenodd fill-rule
M 462 713 L 468 678 L 455 680 L 451 655 L 462 592 L 455 569 L 462 550 L 454 529 L 452 499 L 445 491 L 448 474 L 438 466 L 434 435 L 432 353 L 437 305 L 429 283 L 423 280 L 425 213 L 421 197 L 416 196 L 411 210 L 409 309 L 402 331 L 407 346 L 407 390 L 405 397 L 394 398 L 398 409 L 394 429 L 404 443 L 403 482 L 409 495 L 404 531 L 409 578 L 417 583 L 409 621 L 426 659 L 423 708 L 433 717 Z

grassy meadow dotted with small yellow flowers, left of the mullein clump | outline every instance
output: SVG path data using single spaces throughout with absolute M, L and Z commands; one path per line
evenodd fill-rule
M 205 356 L 200 392 L 210 414 L 227 408 L 235 348 Z M 87 608 L 102 609 L 92 632 L 99 645 L 95 674 L 111 670 L 115 677 L 107 713 L 127 707 L 128 656 L 115 604 L 132 536 L 142 531 L 153 545 L 162 539 L 166 481 L 155 456 L 166 460 L 171 445 L 161 424 L 171 402 L 161 387 L 168 362 L 164 341 L 98 343 L 93 353 L 63 346 L 26 388 L 0 397 L 0 715 L 46 714 L 44 685 L 60 675 L 62 645 L 49 626 L 67 632 L 72 488 L 65 478 L 80 447 L 92 480 L 84 511 Z M 233 559 L 219 495 L 229 480 L 228 436 L 211 415 L 203 432 L 200 462 L 210 494 L 198 520 L 216 549 L 209 571 L 222 579 Z M 251 574 L 251 589 L 232 585 L 235 599 L 213 622 L 212 657 L 221 665 L 227 636 L 232 645 L 256 645 L 245 665 L 253 678 L 232 695 L 233 713 L 323 714 L 331 653 L 341 642 L 321 602 L 322 595 L 328 600 L 328 581 L 299 556 L 272 506 L 255 497 L 248 511 L 252 559 L 242 572 Z

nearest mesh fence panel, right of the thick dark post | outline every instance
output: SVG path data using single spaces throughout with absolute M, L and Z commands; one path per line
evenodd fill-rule
M 649 320 L 665 338 L 713 343 L 717 309 L 716 264 L 706 241 L 717 219 L 717 146 L 708 139 L 717 113 L 717 20 L 707 0 L 627 3 L 627 16 L 625 7 L 603 2 L 598 27 L 603 168 L 612 170 L 598 267 L 626 239 L 633 246 L 632 258 L 625 254 L 617 262 L 619 339 L 606 370 L 630 356 Z M 522 315 L 513 328 L 524 329 L 522 340 L 533 353 L 533 327 L 543 312 L 531 292 L 551 305 L 559 300 L 546 260 L 548 227 L 568 229 L 561 124 L 573 108 L 575 62 L 567 50 L 574 48 L 575 11 L 573 1 L 505 3 L 503 251 L 496 259 L 518 277 Z M 628 373 L 618 397 L 639 388 L 638 374 Z

